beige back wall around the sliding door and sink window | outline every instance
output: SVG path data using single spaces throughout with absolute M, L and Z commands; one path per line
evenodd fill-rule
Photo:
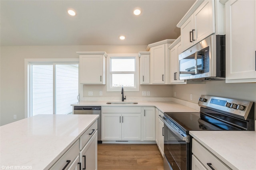
M 46 58 L 78 58 L 77 51 L 106 51 L 106 53 L 138 53 L 145 51 L 147 45 L 84 45 L 84 46 L 1 46 L 0 49 L 0 125 L 24 118 L 24 59 Z M 168 91 L 165 86 L 164 90 Z M 97 89 L 98 88 L 98 89 Z M 99 90 L 105 86 L 96 86 Z M 159 89 L 145 86 L 141 89 L 150 91 L 152 96 L 158 96 Z M 87 93 L 88 94 L 88 93 Z M 103 90 L 103 94 L 106 92 Z M 161 91 L 161 95 L 169 96 L 172 92 Z M 120 95 L 118 92 L 108 93 L 107 96 Z M 140 96 L 141 92 L 125 94 Z M 120 95 L 121 96 L 121 95 Z M 105 96 L 106 97 L 106 96 Z M 161 96 L 160 96 L 161 97 Z M 17 119 L 13 119 L 17 115 Z

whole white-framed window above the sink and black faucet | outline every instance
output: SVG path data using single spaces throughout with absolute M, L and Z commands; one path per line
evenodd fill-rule
M 138 54 L 109 54 L 107 91 L 139 91 Z

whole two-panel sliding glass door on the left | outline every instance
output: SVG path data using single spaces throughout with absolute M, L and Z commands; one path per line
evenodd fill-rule
M 28 63 L 28 117 L 70 114 L 78 102 L 78 62 Z

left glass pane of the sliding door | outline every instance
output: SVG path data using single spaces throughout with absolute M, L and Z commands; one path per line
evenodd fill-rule
M 32 65 L 32 115 L 53 114 L 53 66 Z

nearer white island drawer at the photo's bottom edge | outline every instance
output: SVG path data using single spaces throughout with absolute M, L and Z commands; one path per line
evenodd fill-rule
M 61 170 L 66 165 L 67 169 L 73 161 L 76 159 L 76 156 L 79 153 L 79 142 L 78 140 L 72 145 L 58 160 L 55 164 L 50 168 L 50 170 Z M 69 162 L 69 163 L 68 163 Z

